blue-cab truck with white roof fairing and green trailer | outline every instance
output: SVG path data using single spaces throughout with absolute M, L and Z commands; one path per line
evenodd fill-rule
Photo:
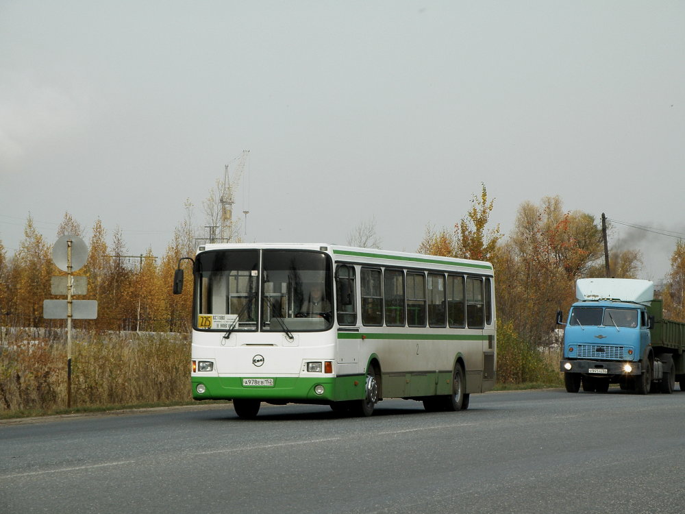
M 609 384 L 638 394 L 685 391 L 685 323 L 663 319 L 650 280 L 584 278 L 564 325 L 561 371 L 566 391 L 606 393 Z

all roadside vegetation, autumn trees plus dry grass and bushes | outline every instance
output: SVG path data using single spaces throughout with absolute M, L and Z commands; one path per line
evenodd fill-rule
M 604 276 L 599 222 L 587 212 L 564 210 L 560 197 L 544 197 L 538 204 L 524 201 L 512 231 L 502 234 L 490 223 L 494 207 L 482 184 L 453 227 L 427 225 L 417 251 L 493 262 L 497 389 L 563 387 L 556 311 L 568 312 L 575 280 Z M 108 243 L 101 221 L 92 225 L 88 260 L 76 274 L 88 280 L 88 292 L 79 299 L 97 300 L 99 315 L 74 322 L 69 412 L 192 402 L 192 287 L 171 293 L 177 262 L 195 252 L 200 233 L 191 211 L 186 202 L 186 219 L 163 256 L 151 249 L 128 255 L 121 231 Z M 375 231 L 371 219 L 350 232 L 348 242 L 379 247 Z M 85 232 L 65 213 L 55 235 Z M 66 412 L 65 323 L 42 317 L 44 299 L 63 298 L 51 295 L 51 277 L 60 273 L 31 217 L 24 236 L 12 256 L 0 241 L 0 418 Z M 609 253 L 612 276 L 640 276 L 638 251 L 610 247 Z M 683 284 L 685 243 L 678 241 L 662 289 L 664 316 L 670 319 L 685 321 Z

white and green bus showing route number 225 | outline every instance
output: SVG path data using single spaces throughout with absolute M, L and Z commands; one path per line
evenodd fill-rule
M 192 396 L 233 400 L 240 417 L 256 417 L 262 402 L 369 416 L 385 398 L 459 411 L 495 385 L 488 262 L 211 244 L 199 247 L 193 276 Z

